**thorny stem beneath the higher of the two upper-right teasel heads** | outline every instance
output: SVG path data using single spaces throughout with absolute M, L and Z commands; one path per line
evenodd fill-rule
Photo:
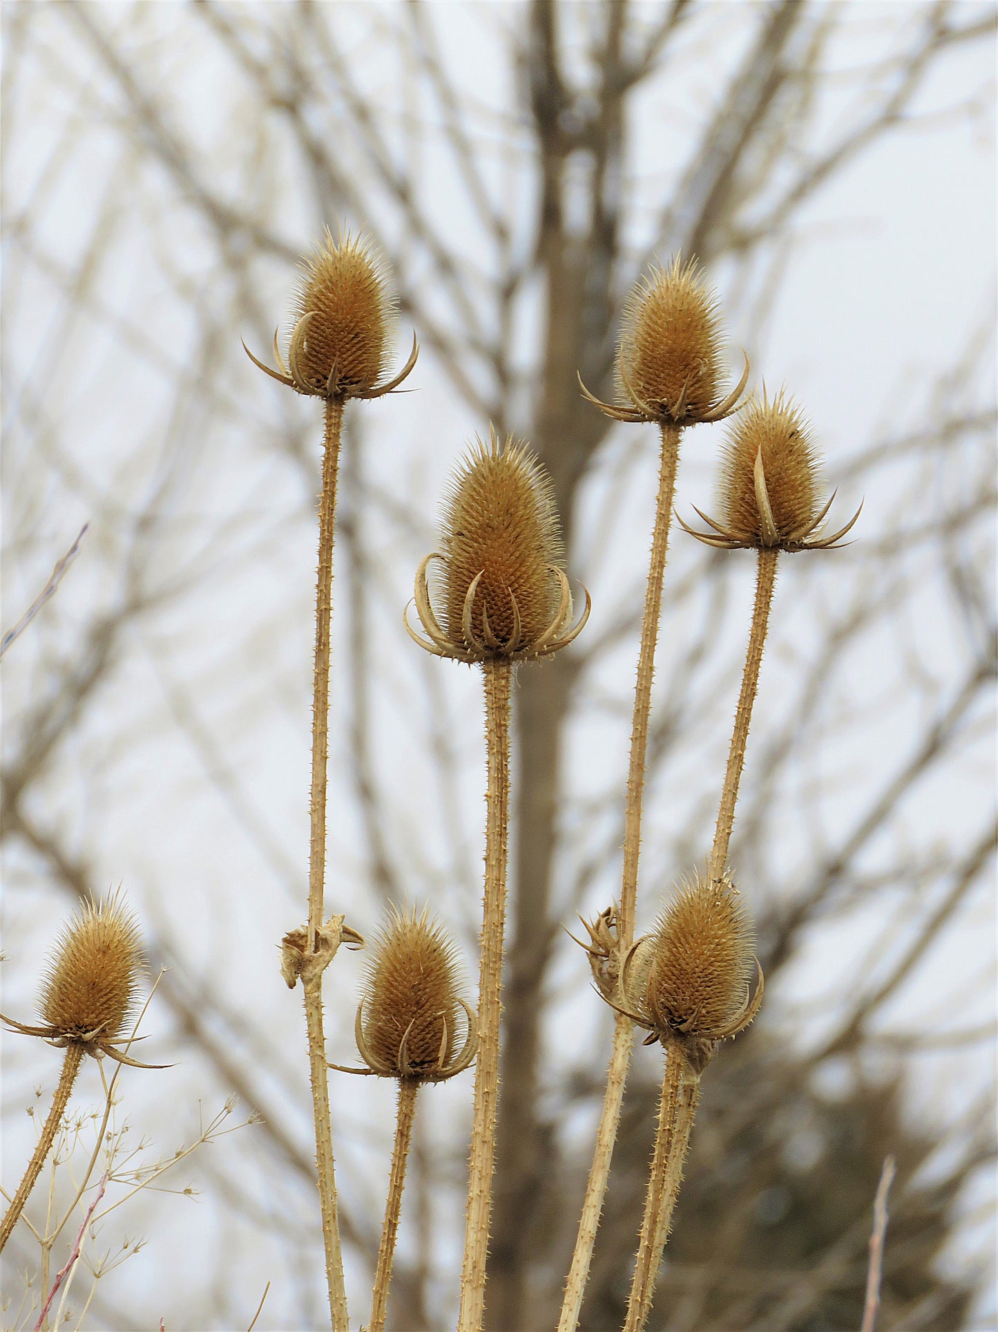
M 672 522 L 672 502 L 676 492 L 679 434 L 679 426 L 663 424 L 659 498 L 655 507 L 652 555 L 644 597 L 641 649 L 637 657 L 637 685 L 635 689 L 635 711 L 631 726 L 631 763 L 627 774 L 624 868 L 620 884 L 620 908 L 617 911 L 620 958 L 624 956 L 635 938 L 637 860 L 641 848 L 641 802 L 644 795 L 645 755 L 648 751 L 648 719 L 652 706 L 655 645 L 659 638 L 659 619 L 661 617 L 661 585 L 665 574 L 665 557 L 669 549 L 669 525 Z M 613 1026 L 613 1048 L 607 1072 L 607 1090 L 603 1096 L 599 1128 L 596 1130 L 596 1147 L 592 1155 L 592 1166 L 589 1167 L 589 1177 L 585 1183 L 585 1199 L 579 1219 L 579 1233 L 575 1240 L 572 1265 L 566 1283 L 558 1332 L 575 1332 L 579 1324 L 583 1295 L 585 1293 L 589 1264 L 592 1263 L 592 1247 L 596 1241 L 603 1200 L 607 1195 L 609 1163 L 620 1124 L 620 1108 L 624 1100 L 624 1083 L 627 1082 L 632 1048 L 633 1023 L 623 1014 L 617 1014 Z

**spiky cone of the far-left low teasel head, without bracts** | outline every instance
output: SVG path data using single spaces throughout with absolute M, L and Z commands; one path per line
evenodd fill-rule
M 118 896 L 86 902 L 63 927 L 41 988 L 55 1036 L 114 1040 L 138 991 L 144 959 L 138 926 Z

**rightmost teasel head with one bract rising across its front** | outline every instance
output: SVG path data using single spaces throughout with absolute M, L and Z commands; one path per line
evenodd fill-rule
M 782 390 L 770 402 L 750 402 L 732 426 L 721 466 L 723 521 L 696 511 L 711 527 L 691 535 L 709 546 L 733 550 L 829 550 L 860 517 L 856 510 L 845 527 L 825 535 L 821 527 L 834 492 L 820 505 L 821 464 L 810 425 L 800 405 Z

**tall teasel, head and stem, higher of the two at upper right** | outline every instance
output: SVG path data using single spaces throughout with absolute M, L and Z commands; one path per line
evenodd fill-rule
M 661 589 L 669 545 L 672 505 L 676 492 L 680 432 L 699 421 L 720 421 L 732 410 L 748 381 L 748 361 L 741 382 L 719 401 L 721 325 L 715 296 L 695 264 L 679 257 L 668 269 L 657 269 L 632 293 L 624 312 L 617 354 L 621 404 L 600 402 L 582 385 L 583 394 L 616 421 L 653 421 L 661 429 L 659 494 L 655 507 L 652 553 L 641 621 L 637 683 L 631 726 L 631 758 L 624 815 L 624 863 L 620 903 L 616 911 L 616 955 L 623 958 L 635 936 L 637 864 L 641 847 L 641 807 L 648 753 L 655 649 L 661 618 Z M 579 381 L 582 384 L 582 380 Z M 607 1090 L 596 1130 L 592 1166 L 585 1184 L 579 1231 L 559 1317 L 559 1332 L 575 1332 L 592 1263 L 592 1248 L 607 1193 L 624 1084 L 633 1048 L 633 1026 L 620 1011 L 613 1022 L 613 1047 L 607 1071 Z

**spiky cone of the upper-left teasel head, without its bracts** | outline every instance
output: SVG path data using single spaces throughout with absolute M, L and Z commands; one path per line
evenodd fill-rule
M 326 228 L 322 241 L 302 262 L 295 324 L 311 316 L 298 356 L 302 378 L 322 389 L 333 369 L 347 397 L 366 393 L 385 369 L 394 318 L 383 266 L 363 236 L 341 236 Z

